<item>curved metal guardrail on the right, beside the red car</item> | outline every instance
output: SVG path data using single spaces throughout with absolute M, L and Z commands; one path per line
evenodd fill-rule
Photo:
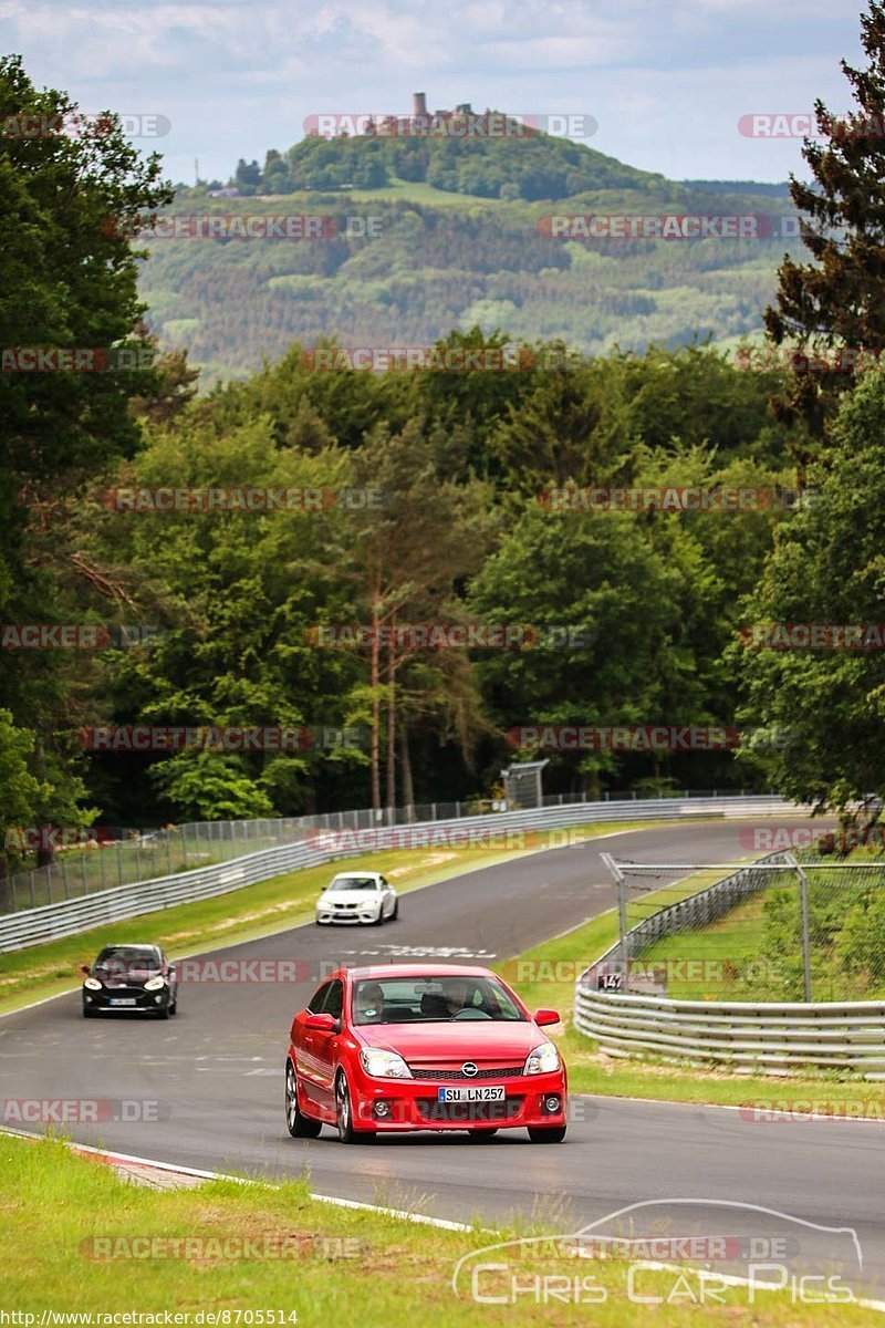
M 784 858 L 770 854 L 760 861 Z M 575 1027 L 609 1056 L 653 1056 L 771 1074 L 813 1065 L 885 1078 L 882 1001 L 694 1001 L 597 989 L 600 971 L 617 969 L 686 924 L 709 926 L 767 883 L 763 872 L 736 871 L 645 918 L 628 932 L 626 956 L 618 940 L 579 977 Z

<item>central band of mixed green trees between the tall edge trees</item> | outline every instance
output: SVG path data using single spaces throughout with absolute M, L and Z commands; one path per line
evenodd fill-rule
M 450 344 L 482 345 L 454 335 Z M 551 348 L 553 349 L 553 348 Z M 362 726 L 342 749 L 105 754 L 111 823 L 295 814 L 488 793 L 524 722 L 731 722 L 722 652 L 788 513 L 559 513 L 551 483 L 789 483 L 770 376 L 705 349 L 506 373 L 317 373 L 299 348 L 162 424 L 57 519 L 101 582 L 96 619 L 146 644 L 70 660 L 82 722 Z M 113 511 L 133 486 L 379 489 L 378 511 Z M 123 596 L 125 595 L 125 600 Z M 334 623 L 580 625 L 520 651 L 322 648 Z M 548 788 L 727 786 L 731 753 L 553 754 Z M 390 791 L 389 791 L 390 790 Z

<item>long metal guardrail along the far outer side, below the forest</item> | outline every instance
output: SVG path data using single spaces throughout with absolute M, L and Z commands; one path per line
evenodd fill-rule
M 645 801 L 624 799 L 622 802 L 577 802 L 525 811 L 495 811 L 459 819 L 425 821 L 395 829 L 399 831 L 425 830 L 433 842 L 434 833 L 439 835 L 456 829 L 472 833 L 478 829 L 540 830 L 592 825 L 597 821 L 795 815 L 801 814 L 803 810 L 774 794 L 734 798 L 649 798 Z M 378 833 L 383 833 L 383 827 L 379 826 Z M 111 890 L 82 895 L 78 899 L 45 904 L 41 908 L 5 914 L 0 916 L 0 952 L 23 950 L 25 946 L 34 946 L 60 936 L 72 936 L 102 923 L 138 918 L 141 914 L 154 912 L 158 908 L 171 908 L 175 904 L 196 899 L 211 899 L 215 895 L 252 886 L 259 880 L 268 880 L 271 876 L 284 875 L 299 867 L 313 867 L 348 857 L 349 853 L 352 853 L 349 847 L 336 851 L 314 846 L 310 842 L 281 845 L 276 849 L 264 849 L 228 862 L 215 863 L 211 867 L 198 867 L 172 876 L 158 876 L 131 886 L 115 886 Z

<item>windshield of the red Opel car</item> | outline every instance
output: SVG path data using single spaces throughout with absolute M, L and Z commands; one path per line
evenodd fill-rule
M 353 984 L 353 1023 L 527 1021 L 495 977 L 366 977 Z

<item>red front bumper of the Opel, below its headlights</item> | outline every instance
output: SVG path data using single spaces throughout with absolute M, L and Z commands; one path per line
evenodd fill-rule
M 568 1113 L 564 1070 L 503 1080 L 504 1101 L 441 1102 L 439 1090 L 466 1088 L 470 1080 L 381 1080 L 358 1073 L 350 1078 L 353 1123 L 358 1130 L 478 1130 L 556 1127 Z M 495 1086 L 483 1080 L 478 1088 Z M 498 1085 L 500 1086 L 500 1085 Z M 381 1104 L 381 1106 L 379 1106 Z M 381 1114 L 379 1114 L 381 1112 Z

